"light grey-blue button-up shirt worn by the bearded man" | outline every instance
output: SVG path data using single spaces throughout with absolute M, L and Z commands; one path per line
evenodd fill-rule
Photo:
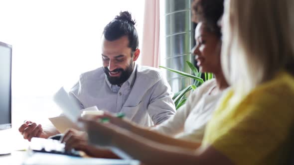
M 101 67 L 82 74 L 70 95 L 81 108 L 96 105 L 99 110 L 123 112 L 142 126 L 159 124 L 175 114 L 170 86 L 159 70 L 137 64 L 121 87 L 109 83 Z

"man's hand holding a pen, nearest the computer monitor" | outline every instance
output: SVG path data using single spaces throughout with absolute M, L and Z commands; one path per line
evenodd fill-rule
M 43 131 L 41 124 L 37 125 L 31 121 L 25 121 L 19 128 L 18 131 L 21 133 L 24 139 L 28 141 L 33 137 L 47 138 L 46 133 Z

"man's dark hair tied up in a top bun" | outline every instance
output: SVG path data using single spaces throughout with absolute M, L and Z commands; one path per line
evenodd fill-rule
M 120 12 L 111 22 L 109 22 L 103 31 L 104 37 L 108 41 L 114 41 L 122 36 L 128 36 L 129 48 L 132 51 L 138 49 L 139 37 L 135 28 L 136 21 L 128 11 Z

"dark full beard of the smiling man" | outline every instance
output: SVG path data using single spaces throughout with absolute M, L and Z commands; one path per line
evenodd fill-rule
M 112 71 L 112 72 L 121 72 L 121 75 L 119 77 L 111 77 L 109 75 L 109 69 L 107 67 L 103 67 L 103 69 L 109 83 L 120 86 L 121 84 L 125 83 L 130 78 L 134 70 L 134 63 L 131 62 L 131 64 L 129 65 L 129 67 L 126 68 L 126 70 L 119 68 Z

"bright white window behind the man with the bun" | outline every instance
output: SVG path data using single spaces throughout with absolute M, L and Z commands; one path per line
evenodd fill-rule
M 144 0 L 0 2 L 0 41 L 11 44 L 13 52 L 14 128 L 23 119 L 39 122 L 60 113 L 52 94 L 76 83 L 81 73 L 102 66 L 103 28 L 125 10 L 137 20 L 142 41 Z

